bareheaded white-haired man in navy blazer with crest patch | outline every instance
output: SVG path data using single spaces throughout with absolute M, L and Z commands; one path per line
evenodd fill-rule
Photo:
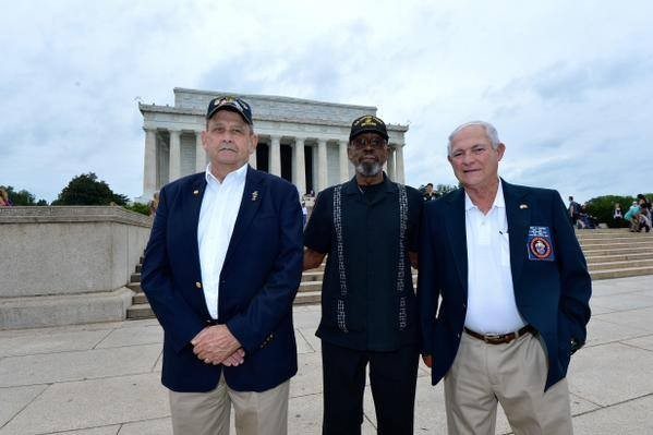
M 506 147 L 474 121 L 449 136 L 462 184 L 425 204 L 418 298 L 450 434 L 572 432 L 565 379 L 585 341 L 591 280 L 560 195 L 498 178 Z

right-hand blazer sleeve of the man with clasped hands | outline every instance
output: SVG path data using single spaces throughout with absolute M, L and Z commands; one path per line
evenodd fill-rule
M 227 327 L 249 353 L 257 350 L 279 322 L 290 314 L 302 277 L 302 208 L 292 185 L 287 185 L 279 194 L 279 249 L 273 270 L 247 309 L 227 321 Z

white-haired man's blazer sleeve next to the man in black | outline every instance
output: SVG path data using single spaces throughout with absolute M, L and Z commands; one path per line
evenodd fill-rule
M 425 355 L 433 355 L 434 352 L 435 315 L 439 297 L 435 239 L 431 228 L 432 220 L 434 220 L 431 205 L 426 204 L 422 208 L 418 255 L 420 265 L 418 271 L 418 306 L 420 307 L 421 352 Z

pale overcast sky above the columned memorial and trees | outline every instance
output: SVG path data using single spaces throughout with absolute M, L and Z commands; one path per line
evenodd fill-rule
M 408 123 L 407 183 L 454 184 L 447 136 L 494 123 L 508 181 L 584 202 L 653 191 L 648 1 L 0 0 L 0 184 L 143 188 L 136 99 L 173 87 L 370 105 Z

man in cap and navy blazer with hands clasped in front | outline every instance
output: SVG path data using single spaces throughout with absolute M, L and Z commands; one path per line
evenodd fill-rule
M 286 434 L 297 373 L 292 301 L 302 212 L 289 182 L 246 165 L 250 106 L 215 98 L 206 172 L 160 191 L 142 287 L 165 331 L 162 384 L 176 434 Z

